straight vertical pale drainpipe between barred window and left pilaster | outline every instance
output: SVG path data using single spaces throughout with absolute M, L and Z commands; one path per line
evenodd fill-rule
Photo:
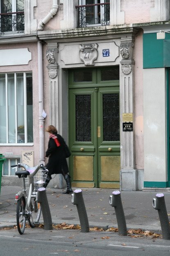
M 39 161 L 44 163 L 44 118 L 42 116 L 43 103 L 43 46 L 37 42 L 38 49 L 38 77 L 39 77 Z

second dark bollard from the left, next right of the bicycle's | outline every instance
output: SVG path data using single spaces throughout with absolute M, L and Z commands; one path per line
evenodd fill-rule
M 73 203 L 73 205 L 77 206 L 81 232 L 87 233 L 90 230 L 89 230 L 88 217 L 86 213 L 86 207 L 84 205 L 82 190 L 76 189 L 71 196 L 72 196 L 71 202 Z

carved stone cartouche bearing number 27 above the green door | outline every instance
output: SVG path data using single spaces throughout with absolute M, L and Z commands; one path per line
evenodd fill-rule
M 97 59 L 98 44 L 79 44 L 79 57 L 86 66 L 94 66 Z

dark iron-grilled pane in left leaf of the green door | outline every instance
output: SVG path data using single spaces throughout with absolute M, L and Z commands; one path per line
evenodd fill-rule
M 76 95 L 76 141 L 91 141 L 91 95 Z

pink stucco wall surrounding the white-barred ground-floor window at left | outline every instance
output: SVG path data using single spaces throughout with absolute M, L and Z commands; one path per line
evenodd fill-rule
M 28 65 L 14 65 L 14 66 L 0 66 L 0 73 L 6 72 L 32 72 L 33 78 L 33 133 L 34 145 L 33 146 L 0 146 L 0 153 L 13 152 L 13 155 L 21 155 L 21 151 L 33 150 L 34 151 L 34 164 L 39 163 L 39 89 L 38 89 L 38 56 L 37 56 L 37 43 L 21 43 L 21 44 L 5 44 L 1 45 L 0 49 L 18 49 L 28 48 L 32 53 L 32 60 Z M 18 56 L 19 58 L 19 56 Z

